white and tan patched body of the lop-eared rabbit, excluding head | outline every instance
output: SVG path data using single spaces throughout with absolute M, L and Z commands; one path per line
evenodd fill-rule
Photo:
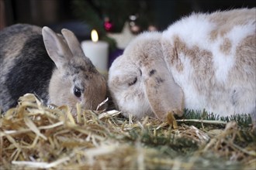
M 255 8 L 193 14 L 163 32 L 164 59 L 185 107 L 256 112 L 255 19 Z

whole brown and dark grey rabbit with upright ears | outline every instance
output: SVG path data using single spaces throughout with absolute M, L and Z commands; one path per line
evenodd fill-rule
M 74 33 L 17 24 L 0 32 L 0 107 L 15 107 L 25 93 L 46 104 L 96 109 L 106 97 L 106 80 L 83 53 Z

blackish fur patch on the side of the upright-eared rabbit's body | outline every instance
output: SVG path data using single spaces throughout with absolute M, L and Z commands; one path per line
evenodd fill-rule
M 47 101 L 50 77 L 55 65 L 44 47 L 43 36 L 31 37 L 14 63 L 5 82 L 12 98 L 18 100 L 25 93 L 36 93 Z

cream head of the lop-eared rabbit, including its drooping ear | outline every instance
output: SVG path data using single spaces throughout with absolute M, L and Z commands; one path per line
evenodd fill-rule
M 164 120 L 169 112 L 183 113 L 182 90 L 164 62 L 160 32 L 144 32 L 130 42 L 112 63 L 108 86 L 124 116 L 155 115 Z

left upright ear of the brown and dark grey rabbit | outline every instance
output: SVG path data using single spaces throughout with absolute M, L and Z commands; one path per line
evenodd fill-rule
M 57 36 L 49 27 L 44 26 L 42 34 L 48 55 L 53 59 L 57 68 L 60 69 L 67 62 L 67 58 L 72 56 L 71 50 L 67 47 L 64 40 L 61 39 L 61 36 Z

